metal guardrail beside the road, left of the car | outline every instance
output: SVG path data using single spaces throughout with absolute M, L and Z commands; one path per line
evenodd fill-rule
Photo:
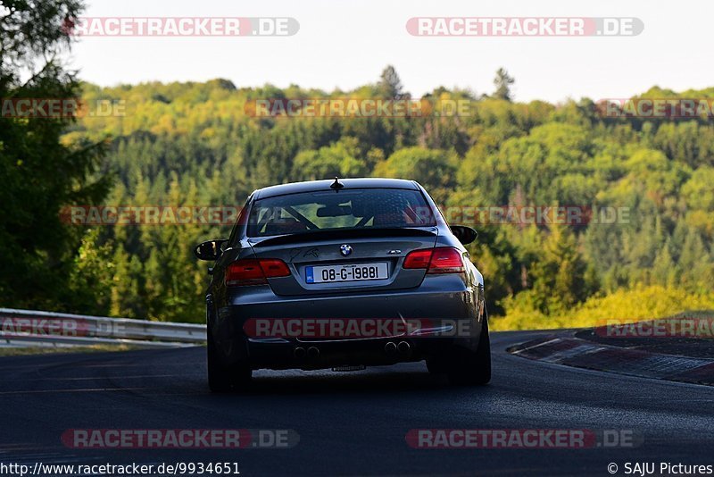
M 128 344 L 187 347 L 205 341 L 203 324 L 148 322 L 0 308 L 0 347 L 76 347 Z

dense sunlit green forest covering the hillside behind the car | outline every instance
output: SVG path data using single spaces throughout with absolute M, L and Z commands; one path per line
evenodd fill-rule
M 107 205 L 239 207 L 254 188 L 339 175 L 419 180 L 449 210 L 627 210 L 612 223 L 475 224 L 480 235 L 470 251 L 486 276 L 491 314 L 505 316 L 496 327 L 568 325 L 569 314 L 583 324 L 588 313 L 602 314 L 594 313 L 601 305 L 623 317 L 712 303 L 711 118 L 604 118 L 589 99 L 518 103 L 512 82 L 498 71 L 492 96 L 446 88 L 428 95 L 469 100 L 468 115 L 396 118 L 255 118 L 246 106 L 261 98 L 411 97 L 392 68 L 352 91 L 237 88 L 226 79 L 87 84 L 87 100 L 123 101 L 126 115 L 84 118 L 65 130 L 62 143 L 112 138 L 95 174 L 117 179 Z M 714 88 L 642 95 L 712 96 Z M 68 281 L 82 293 L 50 306 L 203 320 L 206 264 L 196 262 L 191 247 L 226 237 L 228 224 L 68 228 L 83 234 Z

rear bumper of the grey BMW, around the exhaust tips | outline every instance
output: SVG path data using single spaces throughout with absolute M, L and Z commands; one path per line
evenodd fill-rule
M 414 290 L 310 297 L 276 296 L 267 286 L 246 288 L 240 295 L 232 297 L 228 305 L 209 314 L 209 330 L 226 364 L 247 361 L 253 369 L 394 364 L 441 355 L 452 347 L 475 351 L 481 331 L 482 290 L 465 287 L 463 281 L 453 275 L 432 277 L 424 283 L 427 282 L 428 287 Z M 245 323 L 250 320 L 287 318 L 354 322 L 413 320 L 430 326 L 359 339 L 336 336 L 256 338 L 245 332 Z M 409 352 L 387 352 L 390 342 L 394 345 L 406 342 Z M 304 356 L 298 348 L 302 348 Z M 317 353 L 319 356 L 315 356 Z

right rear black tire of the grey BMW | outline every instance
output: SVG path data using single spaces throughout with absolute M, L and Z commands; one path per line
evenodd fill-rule
M 448 364 L 449 382 L 456 386 L 479 386 L 491 381 L 491 339 L 488 318 L 484 316 L 476 351 L 459 349 Z

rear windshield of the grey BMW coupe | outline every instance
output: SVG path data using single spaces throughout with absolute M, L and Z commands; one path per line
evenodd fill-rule
M 355 188 L 257 200 L 248 219 L 248 237 L 433 225 L 434 213 L 419 190 Z

